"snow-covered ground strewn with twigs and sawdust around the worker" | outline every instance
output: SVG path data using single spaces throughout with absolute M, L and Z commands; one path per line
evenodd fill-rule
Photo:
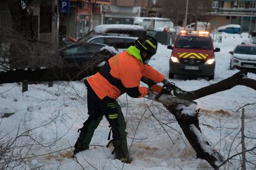
M 229 70 L 228 52 L 248 39 L 247 34 L 221 35 L 222 43 L 215 42 L 215 47 L 220 47 L 221 52 L 216 53 L 214 81 L 203 78 L 169 80 L 181 89 L 193 91 L 237 73 L 238 70 Z M 171 50 L 160 44 L 150 61 L 150 65 L 166 77 L 170 54 Z M 253 73 L 248 77 L 256 79 Z M 132 99 L 126 94 L 118 101 L 127 121 L 132 163 L 114 160 L 114 155 L 111 155 L 113 147 L 105 147 L 109 132 L 105 118 L 95 131 L 90 149 L 78 153 L 77 160 L 70 158 L 70 147 L 79 136 L 77 129 L 88 117 L 86 95 L 85 86 L 77 81 L 54 82 L 53 87 L 30 84 L 24 93 L 22 84 L 0 84 L 0 115 L 14 113 L 1 118 L 0 142 L 19 136 L 17 145 L 22 148 L 23 156 L 27 154 L 29 162 L 20 164 L 16 169 L 211 169 L 206 161 L 196 158 L 174 116 L 161 104 L 147 99 Z M 247 103 L 255 103 L 256 91 L 237 86 L 195 102 L 202 110 L 199 118 L 201 130 L 211 145 L 225 158 L 241 152 L 241 110 L 236 110 Z M 245 107 L 245 135 L 248 137 L 256 137 L 255 110 L 255 105 Z M 164 123 L 164 129 L 153 115 Z M 255 143 L 255 139 L 245 140 L 247 149 L 254 147 Z M 247 153 L 247 160 L 256 163 L 256 156 Z M 236 160 L 231 162 L 234 166 L 239 164 Z M 247 164 L 247 168 L 255 169 L 255 165 Z

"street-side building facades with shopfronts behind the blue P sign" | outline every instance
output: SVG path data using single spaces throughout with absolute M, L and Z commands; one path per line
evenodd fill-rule
M 69 4 L 61 10 L 61 2 Z M 100 24 L 133 24 L 148 17 L 151 0 L 33 0 L 33 31 L 40 41 L 58 42 L 62 36 L 80 38 Z M 7 1 L 0 2 L 1 26 L 12 26 Z

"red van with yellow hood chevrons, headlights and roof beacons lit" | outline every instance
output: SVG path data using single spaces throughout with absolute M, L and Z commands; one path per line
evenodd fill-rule
M 213 39 L 208 31 L 181 30 L 174 42 L 169 60 L 169 78 L 174 75 L 207 76 L 214 79 L 215 52 L 220 48 L 213 47 Z

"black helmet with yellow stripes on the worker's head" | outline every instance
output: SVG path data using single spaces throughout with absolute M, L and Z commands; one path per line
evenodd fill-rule
M 153 36 L 145 34 L 135 41 L 135 46 L 140 50 L 140 55 L 143 52 L 147 53 L 147 59 L 142 59 L 143 63 L 145 63 L 145 60 L 150 60 L 152 55 L 156 54 L 157 41 Z

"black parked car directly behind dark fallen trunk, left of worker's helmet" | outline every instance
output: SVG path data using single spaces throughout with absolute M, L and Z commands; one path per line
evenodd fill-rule
M 113 47 L 112 47 L 113 48 Z M 104 50 L 105 49 L 105 50 Z M 95 42 L 77 42 L 69 44 L 59 50 L 63 61 L 62 67 L 97 67 L 101 62 L 108 60 L 115 54 L 115 51 L 106 44 Z

